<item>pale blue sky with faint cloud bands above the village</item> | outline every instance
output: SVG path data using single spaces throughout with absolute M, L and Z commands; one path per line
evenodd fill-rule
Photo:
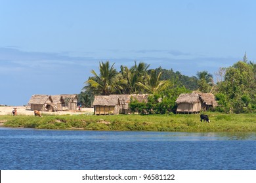
M 0 0 L 0 104 L 80 93 L 100 61 L 193 76 L 256 60 L 256 1 Z

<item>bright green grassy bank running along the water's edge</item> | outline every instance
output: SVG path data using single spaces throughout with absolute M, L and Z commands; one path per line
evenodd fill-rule
M 199 114 L 87 116 L 0 116 L 5 127 L 82 129 L 106 131 L 256 131 L 256 114 L 208 113 L 210 123 Z

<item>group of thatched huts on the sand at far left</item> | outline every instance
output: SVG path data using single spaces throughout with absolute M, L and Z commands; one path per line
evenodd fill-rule
M 76 110 L 77 108 L 76 94 L 63 95 L 32 95 L 28 102 L 28 107 L 31 110 L 41 111 L 61 111 L 61 110 Z

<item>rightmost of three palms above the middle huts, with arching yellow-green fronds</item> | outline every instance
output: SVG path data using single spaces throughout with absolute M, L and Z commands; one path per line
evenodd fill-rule
M 166 84 L 167 80 L 160 80 L 161 72 L 157 75 L 155 70 L 151 70 L 150 76 L 146 78 L 146 83 L 137 82 L 137 85 L 143 88 L 146 92 L 159 92 Z

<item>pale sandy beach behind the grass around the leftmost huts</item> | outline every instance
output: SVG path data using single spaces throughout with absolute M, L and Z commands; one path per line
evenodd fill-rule
M 23 107 L 23 106 L 8 106 L 8 107 L 0 107 L 0 116 L 1 115 L 12 115 L 13 108 L 17 108 L 18 115 L 34 115 L 33 110 L 30 110 L 30 107 Z M 93 108 L 81 108 L 81 111 L 78 110 L 72 110 L 72 111 L 57 111 L 57 112 L 41 112 L 42 114 L 57 114 L 57 115 L 63 115 L 63 114 L 93 114 Z

